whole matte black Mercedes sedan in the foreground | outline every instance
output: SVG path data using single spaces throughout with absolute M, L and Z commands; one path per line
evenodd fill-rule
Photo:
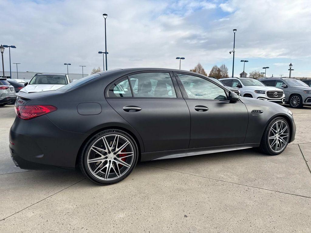
M 123 180 L 137 161 L 251 147 L 277 155 L 295 139 L 287 108 L 189 71 L 110 70 L 17 95 L 9 138 L 16 165 L 80 166 L 102 185 Z

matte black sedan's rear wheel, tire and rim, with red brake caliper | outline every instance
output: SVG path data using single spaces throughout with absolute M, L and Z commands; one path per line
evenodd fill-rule
M 81 154 L 81 170 L 92 181 L 109 185 L 123 180 L 137 163 L 137 145 L 121 130 L 95 135 Z

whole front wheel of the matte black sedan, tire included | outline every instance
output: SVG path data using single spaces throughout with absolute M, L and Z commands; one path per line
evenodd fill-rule
M 277 155 L 282 153 L 290 137 L 290 128 L 282 117 L 273 119 L 263 133 L 260 149 L 267 154 Z

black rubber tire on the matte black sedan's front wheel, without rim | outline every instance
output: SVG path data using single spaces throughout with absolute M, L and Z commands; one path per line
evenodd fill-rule
M 274 123 L 276 121 L 283 121 L 283 123 L 286 124 L 287 128 L 288 128 L 288 137 L 287 137 L 287 143 L 286 145 L 284 146 L 284 148 L 279 151 L 279 152 L 275 152 L 272 150 L 272 148 L 270 147 L 269 145 L 269 133 L 270 133 L 270 130 L 272 128 L 272 126 L 274 125 Z M 261 142 L 260 142 L 260 146 L 259 146 L 259 149 L 265 153 L 265 154 L 268 154 L 268 155 L 278 155 L 280 153 L 282 153 L 285 148 L 287 147 L 288 145 L 288 142 L 289 142 L 289 139 L 290 139 L 290 128 L 289 128 L 289 125 L 287 123 L 287 121 L 283 118 L 283 117 L 276 117 L 274 119 L 272 119 L 269 124 L 267 125 L 267 128 L 265 129 L 265 131 L 263 132 L 263 135 L 262 135 L 262 139 L 261 139 Z

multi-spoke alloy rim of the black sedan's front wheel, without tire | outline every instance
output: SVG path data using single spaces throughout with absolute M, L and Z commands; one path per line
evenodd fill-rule
M 289 129 L 284 121 L 276 121 L 269 131 L 269 146 L 272 151 L 280 152 L 287 145 Z

